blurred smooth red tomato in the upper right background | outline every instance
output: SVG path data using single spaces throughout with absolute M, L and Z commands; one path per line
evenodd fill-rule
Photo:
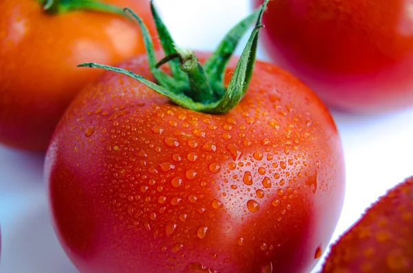
M 273 61 L 328 105 L 360 113 L 413 105 L 411 1 L 276 0 L 263 22 Z

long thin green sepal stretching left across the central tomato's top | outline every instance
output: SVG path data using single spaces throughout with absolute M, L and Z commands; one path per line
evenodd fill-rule
M 135 80 L 140 81 L 140 83 L 143 83 L 144 85 L 147 85 L 147 87 L 153 89 L 153 91 L 156 91 L 158 94 L 167 96 L 170 100 L 175 102 L 177 105 L 180 105 L 184 108 L 191 109 L 194 111 L 202 111 L 202 109 L 204 108 L 204 105 L 202 105 L 202 103 L 194 102 L 191 98 L 189 98 L 185 94 L 173 93 L 171 90 L 165 87 L 162 87 L 160 85 L 157 85 L 156 83 L 152 83 L 150 80 L 147 80 L 146 78 L 138 74 L 134 74 L 134 72 L 131 72 L 126 69 L 112 67 L 109 65 L 99 65 L 98 63 L 82 63 L 81 65 L 77 65 L 77 67 L 100 68 L 100 69 L 105 69 L 107 71 L 124 74 L 131 78 L 134 78 Z

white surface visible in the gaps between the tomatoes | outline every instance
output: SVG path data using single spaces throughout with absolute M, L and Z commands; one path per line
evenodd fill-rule
M 213 50 L 226 30 L 250 10 L 247 0 L 156 4 L 176 42 L 195 50 Z M 258 56 L 266 59 L 262 51 Z M 334 241 L 379 195 L 413 175 L 413 109 L 376 117 L 335 112 L 333 116 L 347 175 L 346 201 Z M 42 168 L 42 156 L 0 146 L 1 273 L 77 273 L 52 230 Z M 317 270 L 319 265 L 313 272 Z

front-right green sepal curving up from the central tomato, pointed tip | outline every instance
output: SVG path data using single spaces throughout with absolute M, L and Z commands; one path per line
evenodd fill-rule
M 251 60 L 255 60 L 255 52 L 257 47 L 257 43 L 255 41 L 258 33 L 260 32 L 260 28 L 262 27 L 263 25 L 257 25 L 254 28 L 253 33 L 248 39 L 248 43 L 246 43 L 246 47 L 242 52 L 240 61 L 238 61 L 237 66 L 235 67 L 234 74 L 222 99 L 216 103 L 215 107 L 205 109 L 205 112 L 226 113 L 240 102 L 246 89 L 248 89 L 248 84 L 251 80 L 254 65 Z

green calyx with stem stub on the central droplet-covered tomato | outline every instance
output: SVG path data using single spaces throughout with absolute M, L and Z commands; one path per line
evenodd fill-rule
M 233 109 L 242 99 L 253 74 L 255 55 L 257 52 L 258 35 L 262 22 L 262 14 L 269 0 L 264 1 L 262 7 L 237 23 L 224 37 L 217 50 L 204 65 L 201 65 L 195 54 L 188 48 L 176 46 L 169 30 L 160 19 L 156 8 L 151 1 L 151 10 L 155 21 L 158 36 L 166 57 L 156 61 L 152 37 L 143 23 L 132 10 L 125 8 L 124 12 L 129 19 L 140 25 L 143 40 L 148 55 L 149 69 L 156 78 L 156 83 L 143 78 L 138 74 L 98 63 L 83 63 L 78 67 L 94 67 L 125 74 L 147 85 L 154 91 L 167 96 L 172 102 L 181 107 L 203 113 L 226 113 Z M 224 73 L 229 59 L 235 52 L 240 39 L 249 26 L 257 19 L 255 28 L 249 36 L 248 42 L 235 67 L 228 87 L 224 86 Z M 160 66 L 169 63 L 172 76 L 162 72 Z

